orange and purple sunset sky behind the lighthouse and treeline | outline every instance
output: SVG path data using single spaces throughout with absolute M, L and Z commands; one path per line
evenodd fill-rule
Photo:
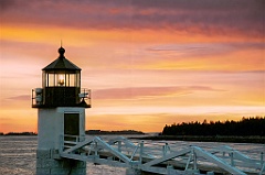
M 265 116 L 264 0 L 0 0 L 0 132 L 36 132 L 59 57 L 92 89 L 86 129 Z

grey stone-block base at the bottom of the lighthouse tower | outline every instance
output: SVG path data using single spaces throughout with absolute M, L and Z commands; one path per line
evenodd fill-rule
M 86 175 L 86 162 L 56 158 L 57 151 L 36 151 L 36 175 Z

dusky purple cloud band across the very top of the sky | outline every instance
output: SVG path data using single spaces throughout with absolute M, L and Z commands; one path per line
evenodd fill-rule
M 263 35 L 264 1 L 1 1 L 3 23 Z M 100 13 L 98 13 L 100 12 Z M 32 15 L 34 14 L 34 15 Z M 250 28 L 251 26 L 251 28 Z

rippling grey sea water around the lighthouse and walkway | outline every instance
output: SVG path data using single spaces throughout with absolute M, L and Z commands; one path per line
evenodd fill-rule
M 103 136 L 108 140 L 112 136 Z M 138 142 L 138 141 L 135 141 Z M 145 146 L 161 146 L 162 141 L 156 141 L 150 144 L 145 141 Z M 182 142 L 169 141 L 171 147 L 181 150 L 187 145 L 198 145 L 205 150 L 224 145 L 224 143 L 215 142 Z M 242 151 L 253 158 L 259 158 L 259 153 L 265 152 L 264 144 L 246 144 L 246 143 L 225 143 L 226 145 Z M 35 174 L 35 151 L 36 136 L 0 136 L 0 175 L 34 175 Z M 94 165 L 87 163 L 87 175 L 123 175 L 126 169 L 120 167 L 110 167 L 107 165 Z

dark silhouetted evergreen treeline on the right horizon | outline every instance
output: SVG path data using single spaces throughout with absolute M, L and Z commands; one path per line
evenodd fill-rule
M 242 118 L 241 121 L 182 122 L 166 125 L 163 135 L 265 135 L 265 117 Z

